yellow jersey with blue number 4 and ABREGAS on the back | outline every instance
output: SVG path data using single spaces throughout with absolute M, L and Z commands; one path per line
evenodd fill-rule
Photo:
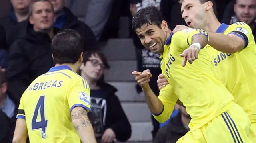
M 71 110 L 90 110 L 88 83 L 66 65 L 36 78 L 20 100 L 16 118 L 26 120 L 30 143 L 80 143 Z

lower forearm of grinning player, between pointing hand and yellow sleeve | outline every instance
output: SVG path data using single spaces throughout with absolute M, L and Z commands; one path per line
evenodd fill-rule
M 151 90 L 150 86 L 144 86 L 142 87 L 142 90 L 145 94 L 146 102 L 150 112 L 156 115 L 161 113 L 164 110 L 164 104 L 162 104 L 161 100 L 157 98 L 157 96 Z

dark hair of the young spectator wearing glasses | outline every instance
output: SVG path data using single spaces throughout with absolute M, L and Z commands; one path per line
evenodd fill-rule
M 101 61 L 104 64 L 106 69 L 110 68 L 110 65 L 108 64 L 106 56 L 102 52 L 97 51 L 97 50 L 91 50 L 91 51 L 84 52 L 84 54 L 83 54 L 83 63 L 86 64 L 86 62 L 89 61 L 89 58 L 92 55 L 98 56 L 101 59 Z

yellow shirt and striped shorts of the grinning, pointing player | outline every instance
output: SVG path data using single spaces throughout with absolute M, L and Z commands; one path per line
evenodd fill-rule
M 250 120 L 242 108 L 232 102 L 232 94 L 218 80 L 209 50 L 201 49 L 198 59 L 193 64 L 182 67 L 183 57 L 180 54 L 189 47 L 192 37 L 196 34 L 208 37 L 203 30 L 186 29 L 171 34 L 166 41 L 164 53 L 160 58 L 161 69 L 170 86 L 163 88 L 164 92 L 160 92 L 158 96 L 165 107 L 161 114 L 155 115 L 155 118 L 158 121 L 168 119 L 170 114 L 166 115 L 165 110 L 172 110 L 179 98 L 192 119 L 189 124 L 191 130 L 177 143 L 216 143 L 214 137 L 219 137 L 225 143 L 234 142 L 234 135 L 238 136 L 238 139 L 235 138 L 236 141 L 247 142 Z M 218 134 L 220 127 L 227 131 L 226 134 Z

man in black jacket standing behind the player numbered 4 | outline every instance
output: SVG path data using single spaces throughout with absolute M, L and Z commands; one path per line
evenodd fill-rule
M 51 42 L 55 14 L 48 0 L 35 0 L 30 5 L 29 23 L 24 37 L 10 47 L 6 74 L 10 96 L 19 104 L 22 93 L 39 75 L 54 66 Z

